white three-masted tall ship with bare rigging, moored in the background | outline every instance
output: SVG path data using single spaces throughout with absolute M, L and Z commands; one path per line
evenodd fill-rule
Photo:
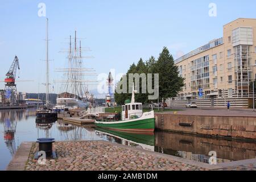
M 95 85 L 96 79 L 90 80 L 87 76 L 96 76 L 93 68 L 84 68 L 83 59 L 92 58 L 92 56 L 82 56 L 82 52 L 90 51 L 90 48 L 82 48 L 81 40 L 77 46 L 77 32 L 75 31 L 75 41 L 72 45 L 72 37 L 69 36 L 69 48 L 64 52 L 68 52 L 68 68 L 57 69 L 58 72 L 64 72 L 64 80 L 57 80 L 61 83 L 62 93 L 58 94 L 57 106 L 65 106 L 69 108 L 85 108 L 90 106 L 88 97 L 88 86 Z

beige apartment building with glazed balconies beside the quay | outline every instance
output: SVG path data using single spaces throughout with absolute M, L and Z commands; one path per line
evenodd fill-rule
M 225 24 L 223 37 L 175 60 L 184 88 L 169 104 L 249 107 L 256 77 L 256 19 L 239 18 Z M 256 85 L 255 85 L 256 86 Z M 203 89 L 200 96 L 199 89 Z

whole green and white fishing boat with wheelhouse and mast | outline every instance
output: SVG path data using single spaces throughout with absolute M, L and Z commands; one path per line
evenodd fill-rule
M 111 130 L 122 130 L 130 132 L 154 132 L 155 130 L 155 115 L 154 110 L 143 113 L 142 103 L 135 102 L 134 90 L 131 96 L 131 101 L 126 101 L 122 105 L 121 120 L 114 119 L 96 119 L 95 124 L 97 127 L 102 127 Z

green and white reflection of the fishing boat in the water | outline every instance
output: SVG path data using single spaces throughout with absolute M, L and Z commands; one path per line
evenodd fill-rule
M 155 135 L 154 133 L 129 133 L 125 131 L 109 130 L 96 127 L 96 135 L 110 142 L 142 148 L 148 151 L 155 150 Z

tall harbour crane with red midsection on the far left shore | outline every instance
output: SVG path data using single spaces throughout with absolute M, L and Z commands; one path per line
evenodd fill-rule
M 17 56 L 15 56 L 9 71 L 6 73 L 5 78 L 5 97 L 11 105 L 17 104 L 17 89 L 15 84 L 17 68 L 20 69 L 19 59 Z

